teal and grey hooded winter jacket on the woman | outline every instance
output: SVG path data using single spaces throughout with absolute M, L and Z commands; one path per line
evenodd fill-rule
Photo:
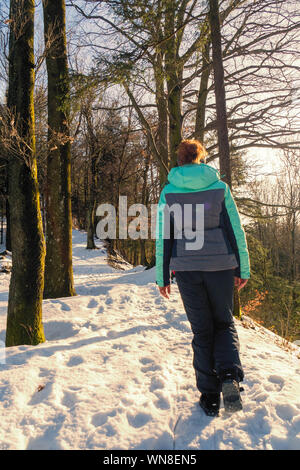
M 172 168 L 157 207 L 156 283 L 170 284 L 170 270 L 225 269 L 250 277 L 246 236 L 229 186 L 204 163 Z

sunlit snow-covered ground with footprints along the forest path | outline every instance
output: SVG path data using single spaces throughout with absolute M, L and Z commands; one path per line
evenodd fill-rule
M 78 295 L 44 301 L 47 341 L 2 357 L 0 449 L 300 450 L 298 347 L 237 321 L 244 409 L 209 418 L 177 286 L 163 299 L 154 269 L 114 269 L 102 243 L 96 251 L 85 243 L 74 231 Z M 0 283 L 4 341 L 8 273 Z

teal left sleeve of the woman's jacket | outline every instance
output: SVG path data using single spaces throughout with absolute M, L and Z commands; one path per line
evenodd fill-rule
M 164 188 L 159 198 L 156 214 L 155 269 L 156 284 L 160 287 L 168 286 L 170 284 L 169 266 L 173 241 L 173 223 L 166 203 Z

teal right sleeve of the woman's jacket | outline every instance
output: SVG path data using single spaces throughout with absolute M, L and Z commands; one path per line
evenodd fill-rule
M 225 188 L 224 206 L 225 229 L 238 262 L 235 275 L 241 279 L 249 279 L 250 260 L 246 234 L 242 226 L 238 208 L 228 185 L 226 185 Z

